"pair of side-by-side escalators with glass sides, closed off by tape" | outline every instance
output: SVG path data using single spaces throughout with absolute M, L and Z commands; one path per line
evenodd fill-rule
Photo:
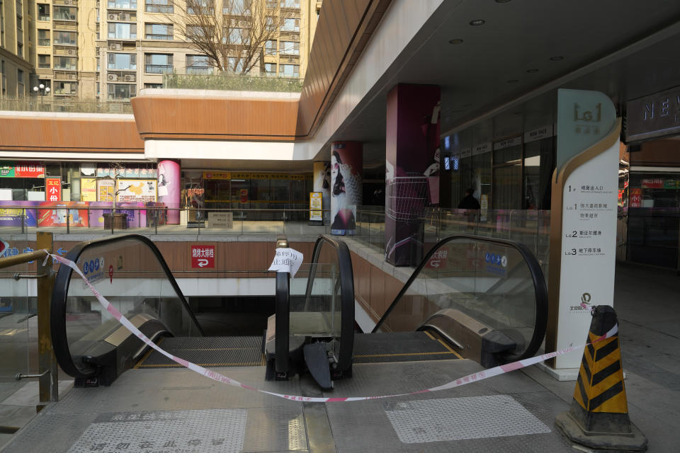
M 79 243 L 67 258 L 172 355 L 203 367 L 262 366 L 268 380 L 309 371 L 322 389 L 351 377 L 359 363 L 465 357 L 488 367 L 517 360 L 533 355 L 545 333 L 540 267 L 510 241 L 454 236 L 436 244 L 373 333 L 356 328 L 351 254 L 332 236 L 319 236 L 312 263 L 295 278 L 276 274 L 276 316 L 262 336 L 204 336 L 161 253 L 144 236 Z M 57 361 L 77 386 L 110 385 L 135 367 L 180 366 L 104 311 L 67 266 L 57 273 L 51 318 Z

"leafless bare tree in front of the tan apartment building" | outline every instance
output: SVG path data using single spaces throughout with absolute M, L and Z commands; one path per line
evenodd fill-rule
M 175 0 L 166 14 L 191 48 L 206 55 L 218 71 L 247 74 L 259 66 L 263 48 L 276 40 L 281 19 L 278 1 Z

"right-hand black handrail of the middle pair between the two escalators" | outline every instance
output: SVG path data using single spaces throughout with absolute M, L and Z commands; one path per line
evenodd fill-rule
M 354 276 L 352 270 L 352 258 L 349 248 L 344 241 L 340 241 L 333 236 L 320 234 L 314 243 L 312 251 L 312 266 L 310 277 L 307 279 L 307 290 L 305 297 L 310 297 L 312 291 L 313 277 L 312 270 L 317 264 L 319 253 L 323 243 L 329 243 L 335 248 L 338 256 L 338 270 L 340 277 L 340 299 L 341 299 L 341 327 L 340 327 L 340 352 L 338 366 L 341 370 L 348 369 L 352 365 L 352 353 L 354 349 Z

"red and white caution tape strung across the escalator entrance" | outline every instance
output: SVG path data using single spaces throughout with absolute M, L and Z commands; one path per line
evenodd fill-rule
M 103 297 L 96 289 L 93 287 L 89 281 L 87 281 L 85 275 L 81 272 L 81 270 L 78 268 L 78 265 L 74 263 L 72 260 L 67 260 L 66 258 L 63 258 L 62 256 L 58 255 L 53 255 L 52 253 L 48 253 L 45 250 L 45 253 L 47 253 L 48 256 L 51 256 L 55 260 L 59 261 L 60 263 L 69 266 L 69 268 L 72 268 L 80 277 L 83 279 L 85 284 L 91 289 L 92 293 L 95 295 L 99 303 L 108 311 L 108 313 L 111 314 L 115 319 L 118 320 L 123 326 L 128 328 L 130 332 L 135 334 L 137 338 L 140 338 L 144 343 L 149 345 L 150 348 L 153 348 L 154 350 L 157 350 L 160 352 L 162 355 L 165 357 L 168 357 L 170 360 L 178 363 L 179 365 L 182 365 L 183 367 L 186 367 L 188 369 L 191 369 L 198 374 L 203 374 L 203 376 L 208 377 L 214 381 L 217 382 L 222 382 L 223 384 L 229 384 L 232 386 L 236 387 L 241 387 L 242 389 L 247 389 L 247 390 L 254 390 L 254 391 L 259 391 L 260 393 L 263 394 L 268 394 L 272 396 L 278 396 L 278 398 L 285 398 L 293 401 L 305 401 L 305 402 L 310 402 L 310 403 L 336 403 L 340 401 L 365 401 L 365 400 L 370 400 L 370 399 L 381 399 L 381 398 L 394 398 L 395 396 L 409 396 L 409 395 L 416 395 L 416 394 L 424 394 L 428 393 L 431 391 L 439 391 L 439 390 L 446 390 L 446 389 L 453 389 L 455 387 L 460 387 L 465 384 L 470 384 L 472 382 L 477 382 L 481 381 L 482 379 L 489 379 L 489 377 L 494 377 L 498 376 L 499 374 L 504 374 L 507 372 L 514 371 L 516 369 L 521 369 L 524 367 L 528 367 L 530 365 L 535 365 L 539 362 L 543 362 L 544 360 L 552 359 L 553 357 L 557 357 L 558 355 L 563 355 L 563 354 L 568 354 L 569 352 L 572 352 L 574 350 L 579 350 L 582 348 L 585 348 L 587 345 L 581 345 L 581 346 L 573 346 L 567 349 L 563 349 L 560 351 L 555 351 L 555 352 L 550 352 L 549 354 L 543 354 L 538 357 L 531 357 L 529 359 L 524 359 L 524 360 L 519 360 L 517 362 L 512 362 L 512 363 L 506 363 L 505 365 L 501 365 L 499 367 L 494 367 L 494 368 L 489 368 L 485 369 L 484 371 L 468 374 L 467 376 L 460 377 L 459 379 L 455 379 L 451 382 L 448 382 L 446 384 L 443 384 L 441 386 L 436 386 L 432 387 L 431 389 L 425 389 L 425 390 L 419 390 L 419 391 L 412 391 L 407 394 L 395 394 L 395 395 L 382 395 L 382 396 L 351 396 L 351 397 L 346 397 L 346 398 L 312 398 L 309 396 L 296 396 L 296 395 L 284 395 L 284 394 L 277 394 L 274 393 L 273 391 L 266 391 L 266 390 L 261 390 L 261 389 L 256 389 L 254 387 L 248 386 L 246 384 L 242 384 L 241 382 L 238 382 L 235 379 L 231 379 L 229 377 L 226 377 L 223 374 L 220 374 L 218 372 L 212 371 L 210 369 L 201 367 L 200 365 L 196 365 L 195 363 L 188 362 L 188 360 L 184 360 L 180 357 L 176 357 L 169 352 L 166 352 L 165 350 L 162 350 L 162 348 L 159 348 L 159 346 L 154 343 L 152 340 L 149 340 L 147 336 L 145 336 L 144 333 L 142 333 L 137 327 L 133 326 L 130 321 L 123 316 L 123 314 L 120 313 L 113 305 L 111 305 L 108 300 L 106 300 L 106 297 Z M 47 258 L 45 258 L 47 260 Z M 597 338 L 594 340 L 592 343 L 588 343 L 588 345 L 597 343 L 601 340 L 604 340 L 605 338 L 611 338 L 612 336 L 616 335 L 618 332 L 618 325 L 613 326 L 611 331 L 608 331 L 606 334 L 603 336 Z

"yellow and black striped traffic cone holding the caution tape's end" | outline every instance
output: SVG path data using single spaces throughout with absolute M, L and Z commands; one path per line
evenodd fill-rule
M 611 306 L 595 306 L 592 315 L 588 343 L 611 331 L 618 322 Z M 572 406 L 557 415 L 555 425 L 570 441 L 594 451 L 647 449 L 647 437 L 628 417 L 618 332 L 586 347 Z

